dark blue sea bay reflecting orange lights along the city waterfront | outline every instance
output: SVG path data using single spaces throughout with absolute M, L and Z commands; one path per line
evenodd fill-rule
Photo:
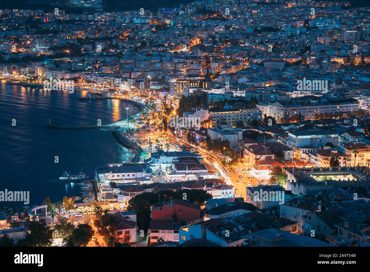
M 94 178 L 94 168 L 127 161 L 132 153 L 103 129 L 64 130 L 57 125 L 102 125 L 126 118 L 126 102 L 119 100 L 78 100 L 86 93 L 44 91 L 7 84 L 0 80 L 0 191 L 30 191 L 30 203 L 45 197 L 62 201 L 65 195 L 80 195 L 77 184 L 58 181 L 63 168 L 77 174 L 81 168 Z M 129 104 L 128 114 L 138 112 Z M 12 126 L 12 119 L 16 126 Z M 58 156 L 59 162 L 54 162 Z M 1 206 L 24 206 L 0 202 Z

